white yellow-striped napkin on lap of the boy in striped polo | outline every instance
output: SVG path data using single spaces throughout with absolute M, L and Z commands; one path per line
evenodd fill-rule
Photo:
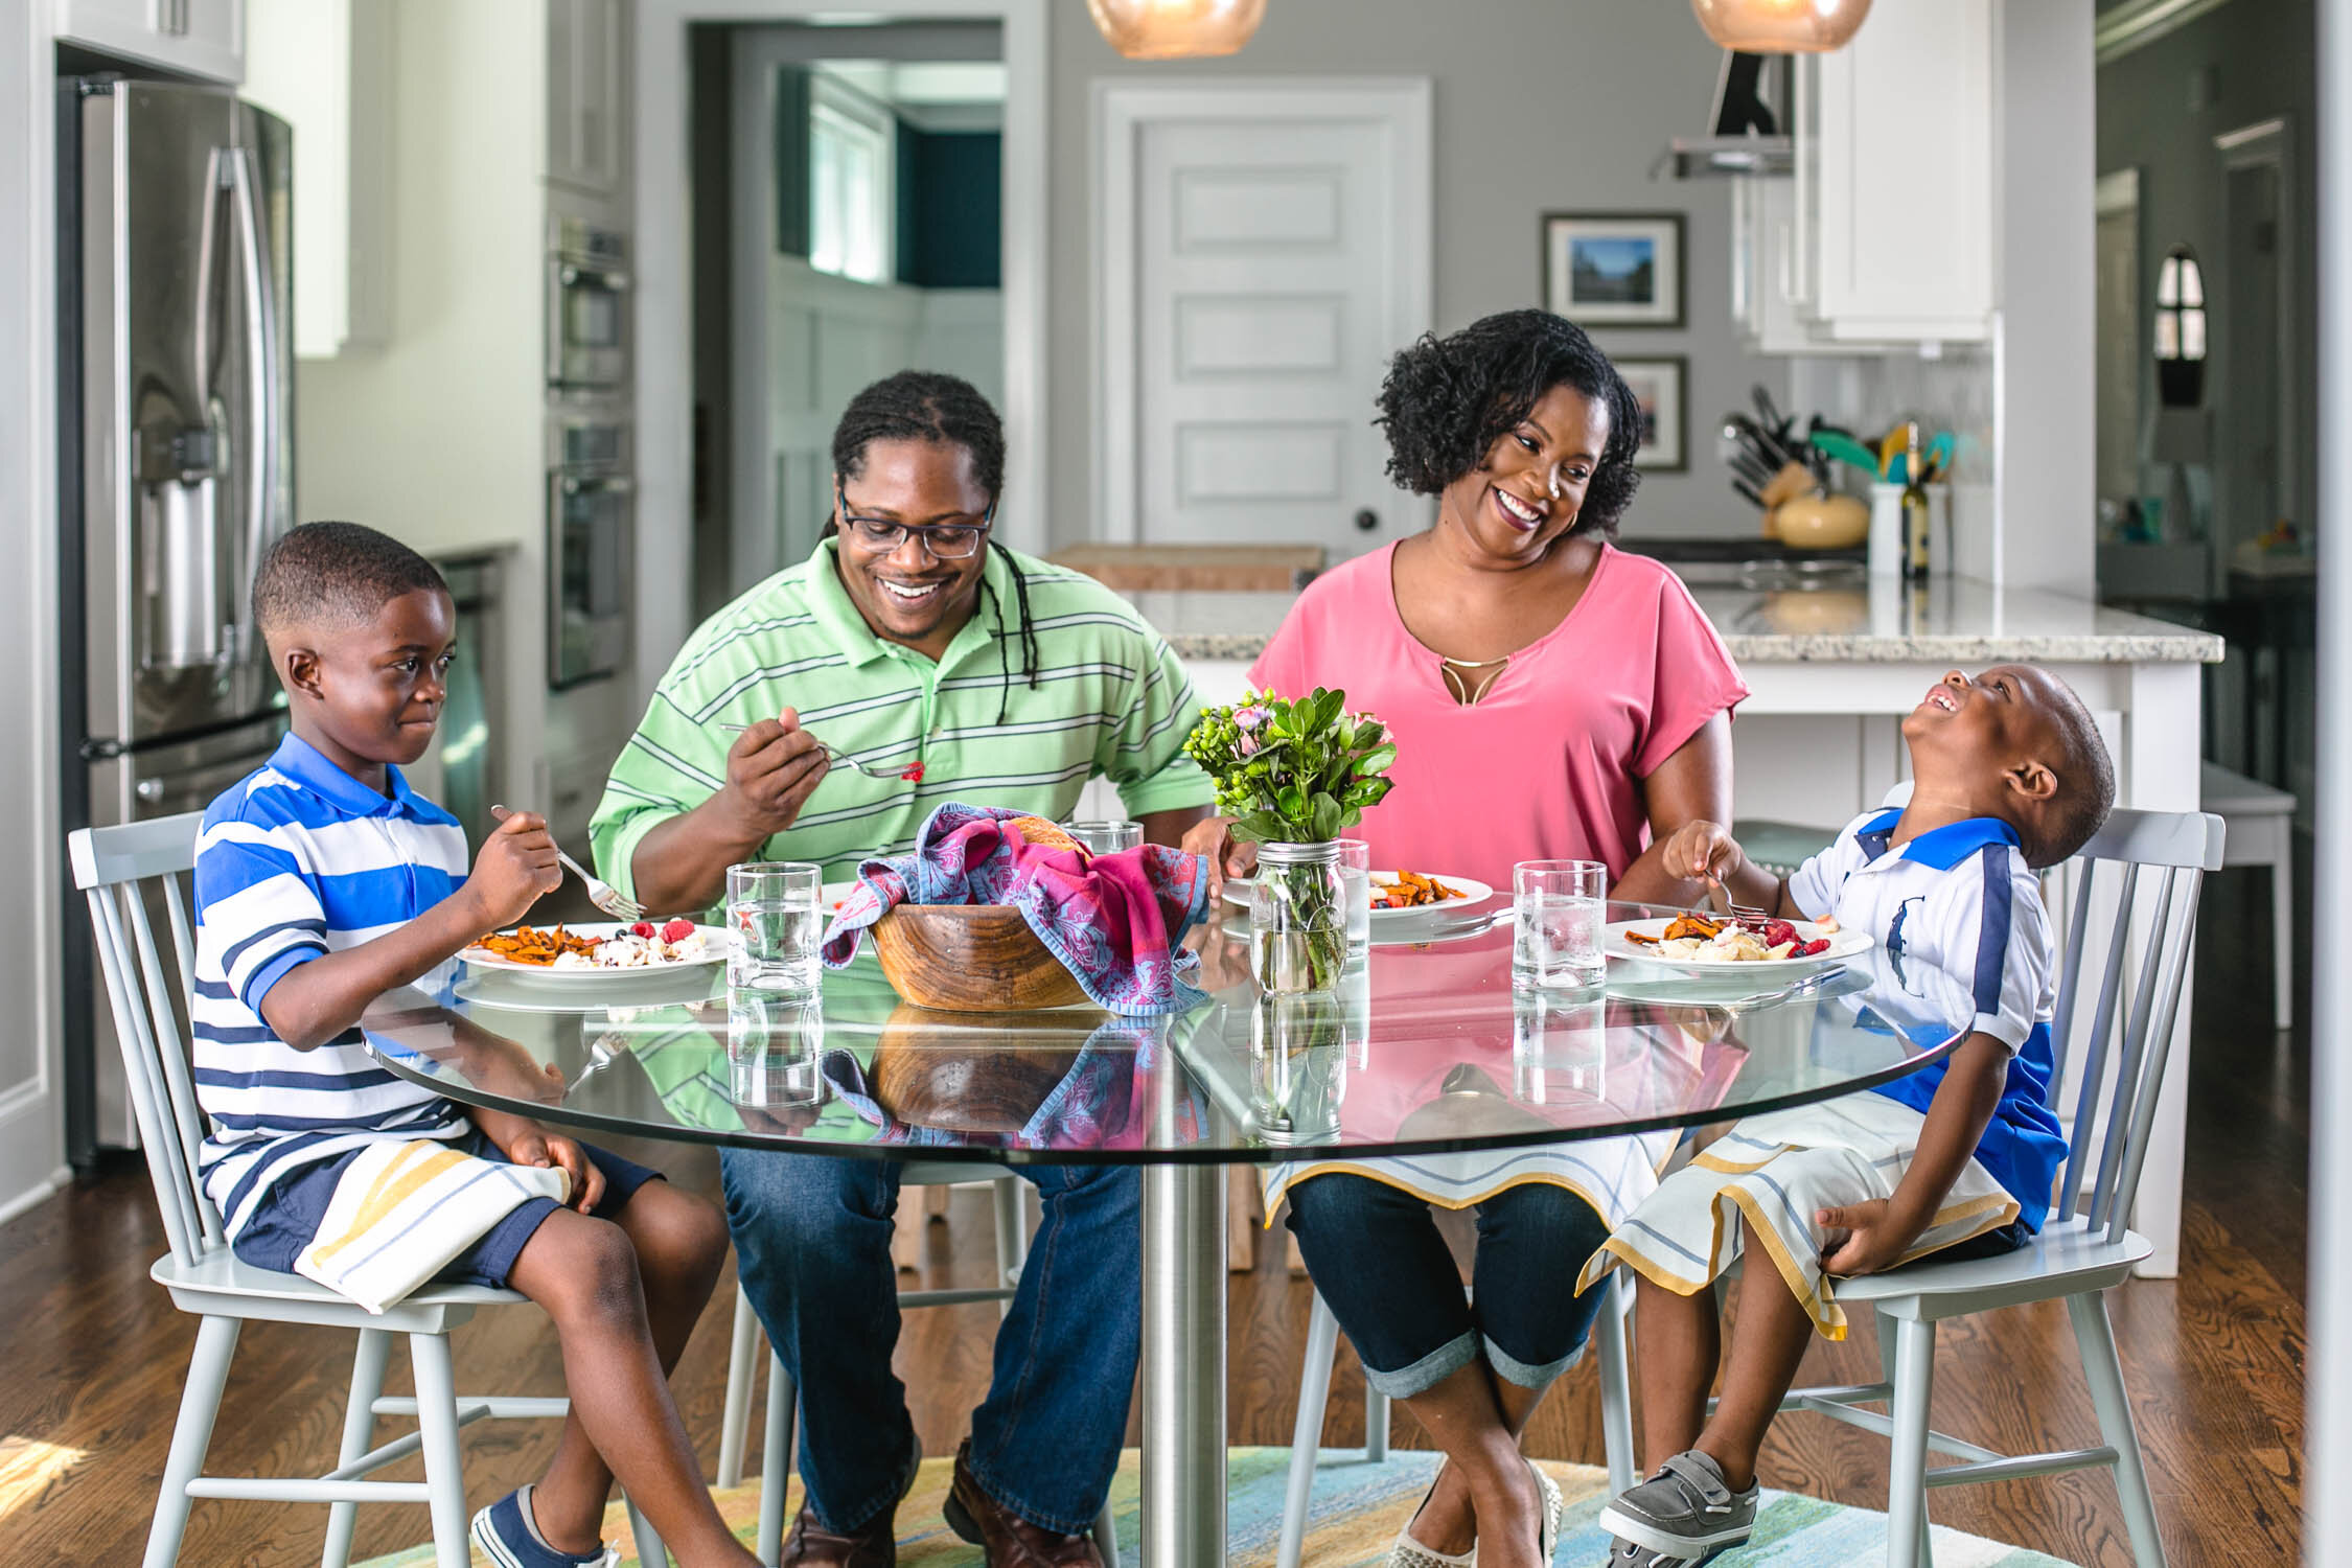
M 562 1204 L 572 1175 L 480 1159 L 433 1138 L 374 1143 L 343 1166 L 294 1272 L 383 1312 L 536 1197 Z

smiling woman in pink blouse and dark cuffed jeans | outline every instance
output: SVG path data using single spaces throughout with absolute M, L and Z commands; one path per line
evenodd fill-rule
M 1609 541 L 1639 475 L 1642 411 L 1583 329 L 1489 315 L 1395 357 L 1381 386 L 1390 477 L 1437 524 L 1317 578 L 1251 677 L 1284 696 L 1343 686 L 1397 741 L 1395 790 L 1364 813 L 1374 865 L 1477 877 L 1602 860 L 1623 898 L 1691 903 L 1663 865 L 1691 818 L 1731 820 L 1731 708 L 1748 696 L 1682 581 Z M 1185 844 L 1249 867 L 1218 823 Z M 1376 959 L 1378 961 L 1378 959 Z M 1289 1225 L 1367 1378 L 1446 1453 L 1390 1563 L 1548 1559 L 1559 1500 L 1517 1432 L 1583 1349 L 1573 1298 L 1609 1234 L 1606 1194 L 1510 1161 L 1468 1201 L 1472 1300 L 1428 1208 L 1388 1161 L 1289 1187 Z M 1541 1540 L 1538 1540 L 1541 1537 Z

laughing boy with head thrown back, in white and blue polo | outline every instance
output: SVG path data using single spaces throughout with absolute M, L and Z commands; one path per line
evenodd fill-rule
M 2049 1105 L 2058 954 L 2034 872 L 2107 820 L 2114 764 L 2082 698 L 2025 665 L 1950 672 L 1903 719 L 1903 741 L 1910 795 L 1865 811 L 1788 882 L 1748 865 L 1715 823 L 1689 823 L 1665 846 L 1670 872 L 1719 882 L 1745 905 L 1867 931 L 1875 999 L 1891 1013 L 1924 1004 L 1966 1037 L 1875 1093 L 1738 1121 L 1585 1265 L 1581 1284 L 1621 1260 L 1639 1276 L 1642 1427 L 1656 1465 L 1602 1509 L 1611 1563 L 1703 1563 L 1748 1540 L 1764 1432 L 1816 1328 L 1844 1333 L 1823 1276 L 2009 1253 L 2049 1213 L 2065 1161 Z M 1759 1178 L 1769 1199 L 1748 1185 Z M 1726 1206 L 1743 1227 L 1724 1225 Z M 1700 1258 L 1710 1232 L 1717 1255 Z M 1759 1255 L 1724 1359 L 1705 1286 L 1745 1232 Z M 1724 1387 L 1710 1415 L 1717 1361 Z

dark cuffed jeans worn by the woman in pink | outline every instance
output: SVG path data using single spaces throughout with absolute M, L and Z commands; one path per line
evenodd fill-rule
M 1477 1361 L 1541 1389 L 1576 1366 L 1602 1284 L 1571 1295 L 1609 1239 L 1592 1206 L 1555 1182 L 1519 1182 L 1477 1204 L 1477 1260 L 1463 1298 L 1430 1206 L 1369 1175 L 1327 1171 L 1289 1190 L 1291 1234 L 1364 1382 L 1411 1399 Z

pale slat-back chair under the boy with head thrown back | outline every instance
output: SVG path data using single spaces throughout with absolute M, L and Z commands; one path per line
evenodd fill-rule
M 1856 1387 L 1795 1389 L 1783 1410 L 1811 1410 L 1893 1441 L 1886 1481 L 1886 1561 L 1891 1568 L 1924 1568 L 1926 1488 L 1973 1481 L 2016 1481 L 2065 1469 L 2110 1467 L 2124 1502 L 2131 1556 L 2140 1568 L 2161 1568 L 2164 1540 L 2147 1495 L 2140 1439 L 2124 1392 L 2124 1366 L 2114 1354 L 2105 1291 L 2124 1284 L 2150 1246 L 2126 1227 L 2140 1187 L 2147 1140 L 2164 1088 L 2180 990 L 2194 957 L 2197 891 L 2204 872 L 2220 870 L 2223 820 L 2201 811 L 2114 811 L 2074 863 L 2072 940 L 2058 983 L 2053 1093 L 2077 1084 L 2072 1135 L 2058 1201 L 2042 1234 L 2002 1258 L 1966 1262 L 1915 1262 L 1886 1274 L 1837 1281 L 1837 1300 L 1870 1307 L 1879 1324 L 1879 1382 Z M 2103 952 L 2093 947 L 2093 886 L 2112 884 L 2112 922 L 2100 919 Z M 2152 898 L 2147 884 L 2154 882 Z M 2133 940 L 2133 922 L 2143 931 Z M 2124 992 L 2129 950 L 2140 959 Z M 2096 983 L 2091 1027 L 2082 1060 L 2070 1063 L 2070 1041 L 2084 985 Z M 2072 1077 L 2067 1070 L 2074 1070 Z M 2098 1410 L 2100 1446 L 2063 1453 L 2004 1455 L 1929 1429 L 1929 1394 L 1936 1385 L 1936 1326 L 1945 1319 L 1997 1307 L 2063 1300 L 2074 1326 L 2091 1406 Z M 1858 1410 L 1884 1403 L 1886 1413 Z M 1959 1465 L 1929 1469 L 1926 1455 L 1943 1453 Z

